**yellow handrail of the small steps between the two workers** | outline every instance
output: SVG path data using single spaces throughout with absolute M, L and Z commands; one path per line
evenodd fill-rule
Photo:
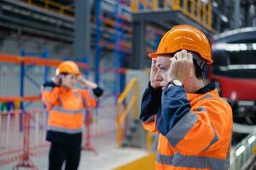
M 127 97 L 127 95 L 131 92 L 133 88 L 133 95 L 125 108 L 125 111 L 122 111 L 123 101 Z M 132 78 L 128 85 L 125 87 L 125 90 L 122 94 L 120 94 L 117 105 L 117 144 L 118 147 L 121 147 L 123 132 L 122 125 L 125 122 L 125 119 L 129 115 L 129 112 L 133 108 L 133 117 L 137 118 L 137 79 Z

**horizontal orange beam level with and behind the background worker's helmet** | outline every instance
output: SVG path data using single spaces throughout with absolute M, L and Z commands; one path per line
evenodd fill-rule
M 8 62 L 8 63 L 15 63 L 20 64 L 24 63 L 26 65 L 44 65 L 44 66 L 58 66 L 61 64 L 61 59 L 42 59 L 36 57 L 20 57 L 19 55 L 13 54 L 0 54 L 0 61 Z M 87 69 L 89 68 L 88 65 L 84 63 L 77 62 L 80 68 Z

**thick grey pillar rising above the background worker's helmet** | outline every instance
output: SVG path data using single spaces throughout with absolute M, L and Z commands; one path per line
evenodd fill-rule
M 75 1 L 74 34 L 73 54 L 76 59 L 87 62 L 90 57 L 90 0 Z

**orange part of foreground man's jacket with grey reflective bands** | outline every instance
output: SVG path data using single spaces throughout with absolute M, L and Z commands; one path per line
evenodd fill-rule
M 148 131 L 159 133 L 156 169 L 225 170 L 230 164 L 232 110 L 218 91 L 187 94 L 191 111 L 163 135 L 156 116 L 143 122 Z

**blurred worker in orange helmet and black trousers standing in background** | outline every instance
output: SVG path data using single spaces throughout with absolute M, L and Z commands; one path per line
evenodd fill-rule
M 76 83 L 92 89 L 96 97 L 103 90 L 96 83 L 86 80 L 73 61 L 64 61 L 58 66 L 55 77 L 44 82 L 42 97 L 49 111 L 46 140 L 49 149 L 49 170 L 61 170 L 66 161 L 66 170 L 79 167 L 84 122 L 84 108 L 96 106 L 88 89 L 74 89 Z

